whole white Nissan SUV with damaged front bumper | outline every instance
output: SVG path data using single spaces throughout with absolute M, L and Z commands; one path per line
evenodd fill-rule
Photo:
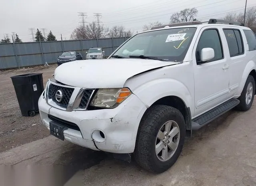
M 136 34 L 107 61 L 60 65 L 38 101 L 43 124 L 59 139 L 134 153 L 146 170 L 164 172 L 186 131 L 252 105 L 256 38 L 219 22 L 162 26 Z

